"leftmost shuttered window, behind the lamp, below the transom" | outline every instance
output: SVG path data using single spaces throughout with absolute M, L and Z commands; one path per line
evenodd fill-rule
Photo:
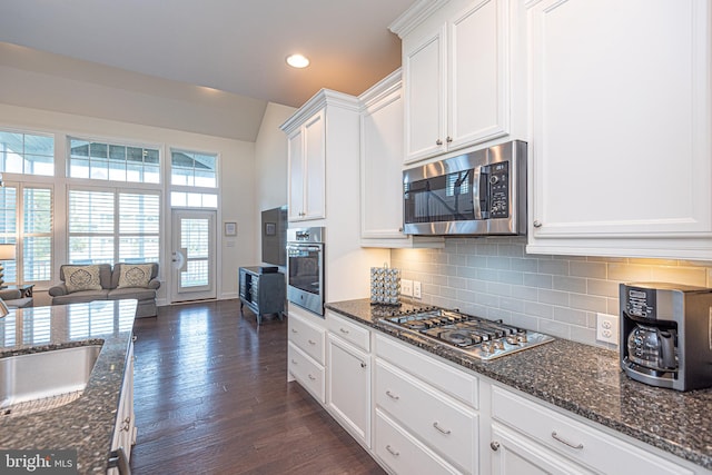
M 21 197 L 19 200 L 18 196 Z M 17 284 L 51 280 L 50 188 L 27 185 L 0 188 L 0 243 L 18 246 L 16 260 L 3 261 L 6 281 Z

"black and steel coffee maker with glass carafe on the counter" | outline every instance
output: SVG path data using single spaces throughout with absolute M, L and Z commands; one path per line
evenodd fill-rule
M 621 367 L 678 390 L 712 386 L 712 288 L 621 284 Z

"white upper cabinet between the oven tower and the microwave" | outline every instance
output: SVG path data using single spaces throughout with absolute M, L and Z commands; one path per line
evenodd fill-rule
M 364 92 L 360 112 L 360 244 L 444 246 L 403 234 L 403 89 L 397 70 Z

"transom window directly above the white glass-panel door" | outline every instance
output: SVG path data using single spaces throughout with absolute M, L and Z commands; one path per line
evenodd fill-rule
M 171 150 L 170 206 L 217 208 L 217 160 L 216 155 Z

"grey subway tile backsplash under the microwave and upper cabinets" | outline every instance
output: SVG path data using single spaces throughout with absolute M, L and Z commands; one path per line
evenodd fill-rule
M 390 266 L 422 283 L 421 301 L 596 342 L 596 313 L 619 315 L 619 284 L 712 287 L 712 263 L 530 255 L 525 238 L 446 238 L 444 249 L 393 249 Z

